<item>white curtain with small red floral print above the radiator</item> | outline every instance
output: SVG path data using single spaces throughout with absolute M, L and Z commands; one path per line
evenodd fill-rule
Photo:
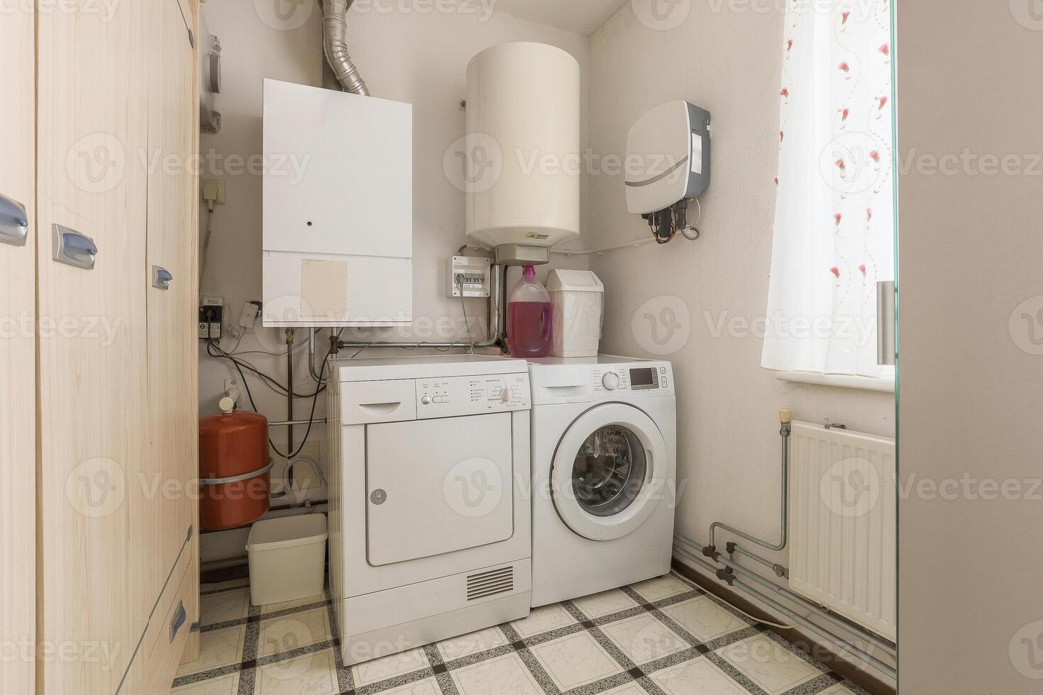
M 890 0 L 787 0 L 761 365 L 880 377 L 894 279 Z

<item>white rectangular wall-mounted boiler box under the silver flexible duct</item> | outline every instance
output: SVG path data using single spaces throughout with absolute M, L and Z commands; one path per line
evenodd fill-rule
M 413 107 L 266 79 L 264 325 L 413 315 Z

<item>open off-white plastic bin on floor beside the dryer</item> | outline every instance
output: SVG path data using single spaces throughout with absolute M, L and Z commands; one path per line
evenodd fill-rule
M 321 594 L 326 537 L 324 514 L 253 524 L 246 541 L 250 602 L 264 605 Z

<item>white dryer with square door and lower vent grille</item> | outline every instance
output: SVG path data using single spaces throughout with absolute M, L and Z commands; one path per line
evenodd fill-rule
M 330 573 L 344 663 L 527 616 L 528 364 L 331 365 Z

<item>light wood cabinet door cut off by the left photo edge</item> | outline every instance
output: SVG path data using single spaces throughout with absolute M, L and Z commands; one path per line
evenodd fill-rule
M 35 678 L 35 29 L 19 7 L 0 20 L 0 238 L 17 242 L 0 241 L 0 644 L 13 659 L 0 693 Z

